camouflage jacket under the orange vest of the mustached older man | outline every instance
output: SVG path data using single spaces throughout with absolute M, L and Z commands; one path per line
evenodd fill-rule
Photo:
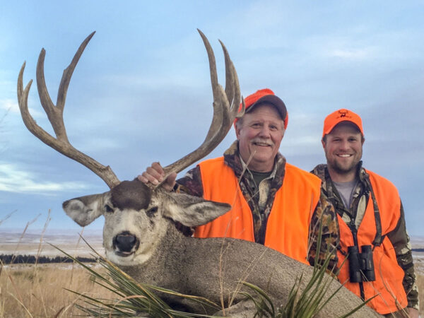
M 269 177 L 263 179 L 259 185 L 254 182 L 252 173 L 243 163 L 238 152 L 238 143 L 235 141 L 224 153 L 225 164 L 232 168 L 235 176 L 240 180 L 240 189 L 249 208 L 252 211 L 254 220 L 254 239 L 259 244 L 264 244 L 266 220 L 273 205 L 276 192 L 283 184 L 285 173 L 285 158 L 281 153 L 276 155 L 273 171 Z M 189 170 L 182 179 L 177 180 L 177 192 L 184 192 L 194 196 L 203 196 L 203 186 L 201 182 L 201 172 L 199 166 Z M 312 215 L 310 224 L 310 246 L 308 261 L 314 264 L 317 252 L 317 237 L 319 235 L 320 224 L 322 223 L 322 244 L 319 253 L 319 264 L 323 264 L 326 255 L 331 254 L 328 269 L 336 269 L 338 243 L 338 223 L 336 213 L 332 204 L 326 200 L 325 196 L 320 196 L 320 200 Z M 184 229 L 184 234 L 190 235 L 192 232 Z M 327 252 L 330 251 L 330 252 Z

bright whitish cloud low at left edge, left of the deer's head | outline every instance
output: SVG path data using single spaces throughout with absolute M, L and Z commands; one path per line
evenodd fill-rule
M 20 170 L 16 165 L 0 163 L 0 191 L 54 195 L 88 188 L 80 182 L 40 182 L 35 179 L 33 173 Z

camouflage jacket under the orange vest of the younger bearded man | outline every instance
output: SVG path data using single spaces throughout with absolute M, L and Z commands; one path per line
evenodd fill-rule
M 355 225 L 358 228 L 365 214 L 368 199 L 370 199 L 370 192 L 366 191 L 368 189 L 367 184 L 369 183 L 366 179 L 369 176 L 367 175 L 365 169 L 362 167 L 362 161 L 358 166 L 359 182 L 355 189 L 353 189 L 353 199 L 350 209 L 344 206 L 340 194 L 338 194 L 336 187 L 334 187 L 333 182 L 331 182 L 326 165 L 317 165 L 317 167 L 314 167 L 314 170 L 312 170 L 312 173 L 322 179 L 322 192 L 324 192 L 327 198 L 332 202 L 341 218 L 346 223 L 349 223 L 351 218 L 355 218 Z M 418 286 L 416 284 L 416 274 L 413 267 L 411 252 L 411 242 L 409 241 L 408 232 L 406 232 L 404 207 L 402 204 L 401 217 L 399 218 L 399 222 L 393 231 L 387 233 L 387 238 L 390 240 L 391 245 L 394 247 L 399 266 L 401 266 L 401 269 L 403 269 L 405 272 L 403 285 L 405 288 L 406 297 L 408 299 L 408 307 L 413 307 L 418 310 Z

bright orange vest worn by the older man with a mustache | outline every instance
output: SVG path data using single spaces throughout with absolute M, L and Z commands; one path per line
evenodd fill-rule
M 228 203 L 232 209 L 210 223 L 197 227 L 194 236 L 234 237 L 254 242 L 252 211 L 234 171 L 225 165 L 223 157 L 205 160 L 199 167 L 204 199 Z M 318 177 L 285 164 L 283 185 L 276 192 L 266 224 L 266 247 L 309 264 L 308 233 L 312 213 L 319 200 L 320 185 Z

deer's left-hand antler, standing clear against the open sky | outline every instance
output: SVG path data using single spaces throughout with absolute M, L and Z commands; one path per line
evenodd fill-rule
M 69 66 L 64 70 L 64 74 L 61 78 L 61 83 L 59 86 L 56 106 L 53 104 L 45 84 L 45 49 L 41 50 L 40 56 L 38 57 L 37 88 L 40 95 L 40 102 L 47 114 L 49 122 L 52 124 L 54 134 L 56 134 L 57 138 L 54 138 L 49 133 L 47 133 L 47 131 L 38 126 L 28 110 L 28 94 L 33 80 L 31 80 L 25 87 L 25 90 L 23 90 L 23 71 L 25 69 L 25 62 L 23 63 L 18 76 L 18 104 L 23 122 L 34 136 L 40 139 L 43 143 L 47 144 L 47 146 L 54 148 L 56 151 L 59 151 L 59 153 L 62 153 L 63 155 L 66 155 L 67 157 L 76 160 L 78 163 L 88 167 L 88 169 L 102 178 L 103 181 L 105 181 L 106 184 L 112 189 L 112 187 L 119 184 L 119 179 L 117 176 L 114 175 L 114 172 L 110 169 L 109 166 L 105 167 L 104 165 L 101 165 L 95 161 L 93 158 L 90 158 L 88 155 L 81 153 L 81 151 L 78 151 L 76 148 L 73 148 L 71 143 L 68 141 L 68 137 L 66 136 L 66 129 L 63 119 L 66 92 L 69 87 L 69 81 L 71 81 L 73 69 L 75 69 L 75 66 L 78 63 L 83 50 L 86 48 L 86 45 L 90 41 L 91 37 L 93 37 L 93 35 L 94 32 L 88 35 L 86 40 L 83 41 L 75 56 L 73 57 L 71 64 L 69 64 Z

